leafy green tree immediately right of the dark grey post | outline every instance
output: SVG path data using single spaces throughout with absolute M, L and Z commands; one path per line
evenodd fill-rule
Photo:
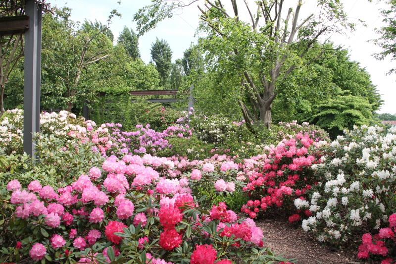
M 67 8 L 43 16 L 42 102 L 47 109 L 70 111 L 95 96 L 105 78 L 100 63 L 113 49 L 103 31 L 78 29 L 69 17 Z

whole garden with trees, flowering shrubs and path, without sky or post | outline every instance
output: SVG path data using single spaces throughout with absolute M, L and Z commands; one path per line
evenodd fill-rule
M 364 66 L 322 42 L 356 26 L 342 1 L 303 18 L 302 0 L 205 0 L 183 58 L 156 38 L 146 63 L 139 38 L 194 2 L 151 1 L 114 39 L 117 9 L 106 26 L 29 1 L 37 111 L 32 31 L 0 29 L 0 263 L 396 264 L 396 126 Z M 29 8 L 4 0 L 0 17 Z M 28 155 L 24 111 L 39 108 Z

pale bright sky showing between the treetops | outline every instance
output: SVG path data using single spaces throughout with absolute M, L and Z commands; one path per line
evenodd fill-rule
M 223 0 L 226 2 L 227 0 Z M 238 0 L 242 3 L 242 0 Z M 296 1 L 296 0 L 292 0 Z M 380 9 L 386 8 L 386 4 L 373 3 L 368 0 L 341 0 L 344 3 L 344 10 L 348 15 L 349 21 L 357 24 L 354 32 L 346 31 L 344 35 L 331 35 L 330 40 L 336 45 L 343 46 L 348 49 L 351 60 L 360 63 L 371 75 L 371 80 L 377 86 L 378 92 L 382 95 L 384 105 L 378 111 L 379 113 L 396 114 L 396 74 L 387 75 L 390 69 L 395 67 L 395 63 L 386 58 L 382 61 L 376 60 L 372 54 L 379 53 L 382 50 L 375 46 L 372 39 L 377 39 L 380 35 L 375 33 L 375 28 L 384 25 Z M 117 0 L 48 0 L 51 6 L 67 6 L 72 9 L 71 19 L 74 21 L 84 22 L 85 19 L 106 23 L 110 11 L 117 9 L 121 13 L 121 17 L 113 17 L 110 23 L 110 30 L 117 39 L 119 32 L 124 26 L 132 28 L 136 32 L 136 24 L 132 22 L 133 15 L 136 11 L 150 4 L 150 0 L 121 0 L 121 4 Z M 183 57 L 183 52 L 187 50 L 192 43 L 197 42 L 198 36 L 196 29 L 199 23 L 199 10 L 197 4 L 203 6 L 204 0 L 199 0 L 191 6 L 183 10 L 177 10 L 171 19 L 160 22 L 155 29 L 150 30 L 139 39 L 139 50 L 142 59 L 148 63 L 150 61 L 151 43 L 155 39 L 163 39 L 168 42 L 173 55 L 172 60 Z M 253 2 L 250 0 L 250 2 Z M 316 7 L 316 0 L 305 0 L 301 7 L 300 17 L 305 17 L 310 13 L 317 14 L 320 9 Z M 245 10 L 240 11 L 241 16 L 247 14 Z M 361 25 L 358 19 L 362 19 L 367 27 Z

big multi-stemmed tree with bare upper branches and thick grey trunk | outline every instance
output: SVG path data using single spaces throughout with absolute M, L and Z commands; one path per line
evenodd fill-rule
M 205 0 L 204 7 L 198 5 L 200 31 L 207 35 L 198 44 L 206 54 L 206 70 L 216 72 L 220 83 L 227 83 L 223 87 L 228 91 L 221 94 L 227 93 L 233 97 L 233 103 L 238 103 L 253 133 L 251 122 L 271 126 L 274 99 L 289 92 L 291 73 L 300 71 L 324 53 L 315 49 L 315 56 L 305 59 L 320 37 L 343 26 L 353 27 L 347 23 L 339 0 L 317 3 L 321 8 L 319 17 L 310 14 L 302 19 L 302 0 L 295 7 L 285 0 L 258 0 L 254 7 L 247 1 L 230 0 L 231 12 L 220 0 Z M 139 34 L 171 16 L 172 8 L 182 5 L 181 1 L 155 1 L 140 9 L 134 17 Z M 248 14 L 248 22 L 240 19 L 242 12 Z

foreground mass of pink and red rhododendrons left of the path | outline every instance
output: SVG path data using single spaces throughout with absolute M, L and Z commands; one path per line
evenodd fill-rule
M 222 202 L 205 210 L 200 205 L 205 197 L 192 195 L 197 181 L 215 170 L 211 162 L 179 178 L 164 177 L 175 163 L 180 164 L 150 155 L 111 156 L 61 188 L 39 180 L 23 188 L 9 181 L 4 195 L 12 216 L 1 224 L 11 245 L 0 250 L 0 261 L 25 256 L 41 263 L 221 264 L 235 256 L 285 261 L 263 248 L 262 231 L 251 218 L 239 218 Z M 236 168 L 226 161 L 220 170 Z M 216 182 L 213 188 L 232 191 L 232 185 Z

